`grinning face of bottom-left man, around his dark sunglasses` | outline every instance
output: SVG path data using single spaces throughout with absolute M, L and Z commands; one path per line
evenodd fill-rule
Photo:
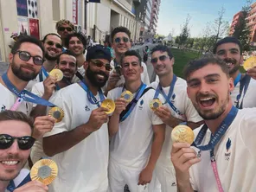
M 0 122 L 0 134 L 12 137 L 31 136 L 29 124 L 18 120 Z M 20 150 L 15 140 L 10 148 L 0 149 L 0 181 L 10 181 L 19 174 L 28 160 L 30 150 Z

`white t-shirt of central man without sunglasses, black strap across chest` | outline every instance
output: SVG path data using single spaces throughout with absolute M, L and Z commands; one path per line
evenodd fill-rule
M 118 99 L 122 90 L 123 87 L 113 89 L 107 98 Z M 154 94 L 154 89 L 144 93 L 128 118 L 119 123 L 118 132 L 111 139 L 110 157 L 127 168 L 141 169 L 145 165 L 150 157 L 152 125 L 163 124 L 150 109 L 150 101 Z

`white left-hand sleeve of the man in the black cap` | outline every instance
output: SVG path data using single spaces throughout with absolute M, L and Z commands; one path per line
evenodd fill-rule
M 71 129 L 71 122 L 72 122 L 72 101 L 68 102 L 68 98 L 62 96 L 60 93 L 57 94 L 53 99 L 50 99 L 50 102 L 54 103 L 56 106 L 59 106 L 64 111 L 64 118 L 59 123 L 54 124 L 54 128 L 52 131 L 47 132 L 43 137 L 49 137 L 56 134 L 59 134 L 64 131 L 70 131 Z

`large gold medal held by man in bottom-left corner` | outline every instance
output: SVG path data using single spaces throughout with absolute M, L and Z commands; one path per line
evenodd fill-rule
M 45 185 L 54 181 L 58 175 L 58 166 L 51 159 L 42 159 L 36 162 L 30 170 L 32 181 L 39 181 Z

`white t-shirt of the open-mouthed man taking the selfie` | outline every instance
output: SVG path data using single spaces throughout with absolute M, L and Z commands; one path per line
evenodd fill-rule
M 256 109 L 240 110 L 214 148 L 217 170 L 224 191 L 248 192 L 256 189 L 255 125 Z M 201 127 L 195 129 L 195 136 L 200 129 Z M 208 131 L 202 145 L 208 144 L 210 134 Z M 201 151 L 201 162 L 192 165 L 189 173 L 193 189 L 218 191 L 209 150 Z

